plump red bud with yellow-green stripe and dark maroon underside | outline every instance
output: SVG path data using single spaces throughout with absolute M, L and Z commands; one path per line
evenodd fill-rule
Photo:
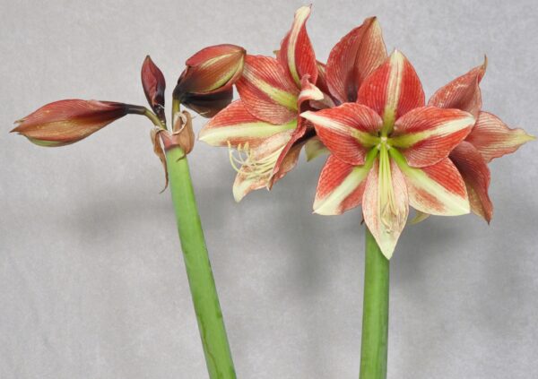
M 204 117 L 230 104 L 232 85 L 243 71 L 246 51 L 235 45 L 205 47 L 187 59 L 173 97 Z

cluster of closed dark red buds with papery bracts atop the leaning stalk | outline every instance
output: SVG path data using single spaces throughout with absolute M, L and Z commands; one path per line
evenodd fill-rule
M 171 132 L 166 126 L 166 82 L 150 56 L 143 61 L 141 79 L 151 110 L 112 101 L 65 99 L 47 104 L 16 121 L 12 132 L 24 135 L 39 146 L 57 147 L 79 142 L 127 114 L 148 116 L 154 125 L 153 150 L 161 159 L 168 185 L 165 151 L 179 148 L 185 156 L 195 144 L 192 116 L 187 111 L 179 111 L 178 105 L 183 104 L 206 117 L 226 108 L 233 96 L 232 86 L 242 73 L 245 55 L 242 47 L 218 45 L 206 47 L 187 59 L 187 67 L 173 92 L 173 104 L 177 106 L 173 111 Z

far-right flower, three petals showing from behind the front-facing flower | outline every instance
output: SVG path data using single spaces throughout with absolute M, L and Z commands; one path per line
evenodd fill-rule
M 471 202 L 471 210 L 488 222 L 493 216 L 490 201 L 491 159 L 514 152 L 523 143 L 534 140 L 523 129 L 511 129 L 497 116 L 482 111 L 482 94 L 479 83 L 486 72 L 487 61 L 483 65 L 459 76 L 437 90 L 429 104 L 440 108 L 458 108 L 476 118 L 471 133 L 456 146 L 449 158 L 464 178 Z

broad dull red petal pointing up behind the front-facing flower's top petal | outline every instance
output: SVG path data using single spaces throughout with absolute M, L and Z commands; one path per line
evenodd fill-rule
M 386 60 L 381 27 L 366 19 L 333 47 L 327 60 L 327 85 L 340 103 L 354 102 L 364 79 Z

